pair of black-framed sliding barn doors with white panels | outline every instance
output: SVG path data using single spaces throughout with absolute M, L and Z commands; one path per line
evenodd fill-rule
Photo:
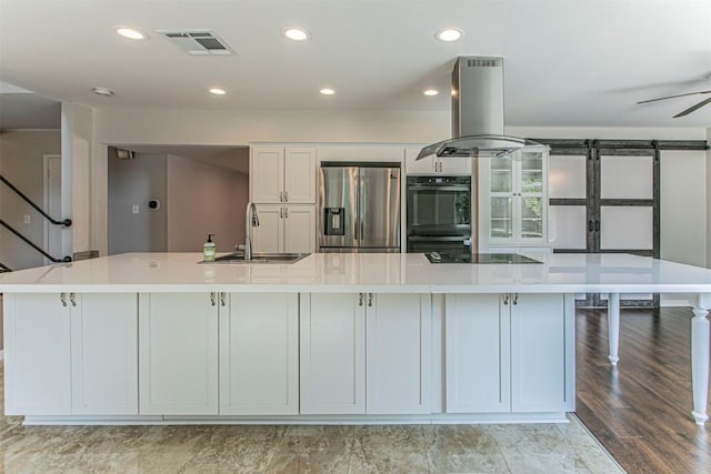
M 628 149 L 615 142 L 553 145 L 549 161 L 549 198 L 553 252 L 600 253 L 602 260 L 614 253 L 659 258 L 658 149 Z M 601 283 L 605 280 L 604 274 L 587 278 Z M 654 294 L 621 296 L 621 304 L 625 306 L 658 303 L 659 296 Z M 579 304 L 605 306 L 607 296 L 588 294 Z

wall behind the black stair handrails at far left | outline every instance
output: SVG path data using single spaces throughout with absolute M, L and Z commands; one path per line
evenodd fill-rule
M 42 206 L 43 155 L 60 154 L 61 138 L 54 131 L 6 131 L 0 134 L 0 173 L 36 204 Z M 24 223 L 24 215 L 30 223 Z M 0 218 L 40 248 L 43 245 L 43 218 L 0 183 Z M 52 215 L 58 219 L 59 215 Z M 63 255 L 52 255 L 60 258 Z M 43 264 L 42 255 L 4 228 L 0 228 L 0 262 L 13 270 Z

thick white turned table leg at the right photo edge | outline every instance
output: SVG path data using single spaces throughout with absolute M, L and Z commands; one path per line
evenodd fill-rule
M 698 425 L 703 425 L 709 415 L 709 306 L 711 294 L 700 294 L 691 320 L 691 385 L 693 390 L 693 415 Z

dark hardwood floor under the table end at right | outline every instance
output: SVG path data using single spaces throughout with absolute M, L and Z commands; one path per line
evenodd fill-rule
M 711 423 L 691 416 L 691 310 L 620 313 L 613 369 L 607 311 L 577 312 L 578 417 L 629 473 L 711 473 Z

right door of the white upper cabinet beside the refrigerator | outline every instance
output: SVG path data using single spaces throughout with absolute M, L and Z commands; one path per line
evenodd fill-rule
M 316 148 L 287 147 L 283 202 L 316 203 Z

